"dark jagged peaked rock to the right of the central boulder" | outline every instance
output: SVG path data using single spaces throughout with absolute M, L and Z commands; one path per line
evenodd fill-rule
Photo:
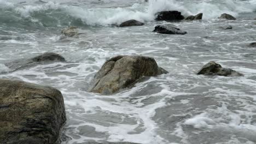
M 222 68 L 222 65 L 211 61 L 203 65 L 197 75 L 241 76 L 242 74 L 232 69 Z

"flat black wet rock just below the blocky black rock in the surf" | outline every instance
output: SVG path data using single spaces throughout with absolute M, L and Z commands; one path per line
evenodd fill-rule
M 167 26 L 156 26 L 153 32 L 162 34 L 187 34 L 187 32 L 181 31 L 179 28 Z

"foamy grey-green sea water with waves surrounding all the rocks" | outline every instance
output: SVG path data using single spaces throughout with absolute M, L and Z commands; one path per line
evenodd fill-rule
M 201 21 L 154 21 L 161 10 Z M 237 20 L 217 19 L 222 13 Z M 255 0 L 0 0 L 0 77 L 59 89 L 67 122 L 62 144 L 97 142 L 256 143 Z M 137 27 L 114 27 L 135 19 Z M 152 32 L 172 25 L 185 35 Z M 231 25 L 233 29 L 223 30 Z M 79 38 L 61 38 L 77 26 Z M 4 63 L 43 52 L 67 63 L 37 65 L 9 73 Z M 169 74 L 150 77 L 113 95 L 87 92 L 106 59 L 117 55 L 154 57 Z M 216 61 L 244 76 L 196 75 Z

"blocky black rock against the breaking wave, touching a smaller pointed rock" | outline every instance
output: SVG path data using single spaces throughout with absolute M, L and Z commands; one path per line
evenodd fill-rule
M 161 11 L 155 15 L 157 21 L 177 21 L 185 18 L 179 11 Z

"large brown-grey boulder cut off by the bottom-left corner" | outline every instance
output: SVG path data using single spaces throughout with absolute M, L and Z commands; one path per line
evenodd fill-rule
M 0 142 L 54 144 L 66 121 L 60 91 L 18 80 L 0 79 Z

